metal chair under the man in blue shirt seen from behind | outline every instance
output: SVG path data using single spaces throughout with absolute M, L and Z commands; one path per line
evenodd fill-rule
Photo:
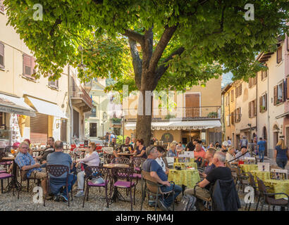
M 54 177 L 59 177 L 63 174 L 66 173 L 66 195 L 68 198 L 68 207 L 69 207 L 69 195 L 68 195 L 68 176 L 69 176 L 69 167 L 65 166 L 65 165 L 47 165 L 46 167 L 46 172 L 47 172 L 47 177 L 48 177 L 48 190 L 50 190 L 50 175 L 54 176 Z M 49 175 L 50 174 L 50 175 Z M 74 177 L 73 177 L 74 180 Z M 47 192 L 49 193 L 49 191 Z M 71 200 L 73 200 L 73 189 L 71 188 Z M 46 200 L 47 196 L 45 196 L 44 198 L 44 206 L 45 206 L 45 200 Z

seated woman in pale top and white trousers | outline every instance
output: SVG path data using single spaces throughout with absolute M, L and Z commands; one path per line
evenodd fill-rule
M 98 167 L 99 166 L 99 154 L 97 153 L 97 151 L 95 151 L 96 149 L 96 145 L 94 142 L 90 142 L 88 144 L 88 148 L 90 150 L 90 152 L 85 155 L 85 158 L 82 160 L 76 160 L 76 162 L 78 162 L 75 167 L 78 167 L 78 165 L 80 163 L 85 163 L 85 165 L 87 165 L 88 167 Z M 75 197 L 81 197 L 84 196 L 85 193 L 83 192 L 83 186 L 84 186 L 84 182 L 85 182 L 85 172 L 79 172 L 78 173 L 78 193 L 76 193 Z M 99 179 L 95 179 L 94 181 L 92 181 L 94 184 L 102 184 L 104 183 L 104 179 L 99 178 Z

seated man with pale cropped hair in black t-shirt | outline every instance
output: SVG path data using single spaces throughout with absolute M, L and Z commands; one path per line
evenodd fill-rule
M 203 200 L 211 197 L 209 189 L 214 186 L 216 180 L 228 181 L 232 179 L 230 169 L 225 166 L 226 155 L 222 152 L 216 152 L 214 154 L 213 163 L 216 168 L 212 169 L 206 178 L 197 184 L 195 191 L 194 188 L 186 189 L 185 194 L 195 195 L 197 198 L 196 206 L 199 210 L 204 210 Z

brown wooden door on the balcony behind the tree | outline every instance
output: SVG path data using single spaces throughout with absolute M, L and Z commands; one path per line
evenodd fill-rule
M 187 119 L 199 117 L 199 94 L 185 94 L 185 113 Z

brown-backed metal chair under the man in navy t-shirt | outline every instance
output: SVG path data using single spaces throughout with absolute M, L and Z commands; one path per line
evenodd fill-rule
M 168 191 L 166 193 L 161 191 L 161 184 L 159 184 L 156 179 L 154 179 L 149 172 L 146 172 L 142 169 L 142 203 L 140 205 L 140 210 L 142 210 L 142 205 L 144 203 L 144 198 L 146 196 L 146 193 L 152 193 L 156 196 L 155 199 L 155 205 L 154 205 L 154 211 L 156 211 L 156 205 L 158 203 L 159 197 L 164 198 L 164 195 L 175 195 L 175 183 L 173 181 L 170 181 L 170 183 L 173 185 L 173 190 Z M 173 200 L 173 211 L 175 211 L 175 200 Z

